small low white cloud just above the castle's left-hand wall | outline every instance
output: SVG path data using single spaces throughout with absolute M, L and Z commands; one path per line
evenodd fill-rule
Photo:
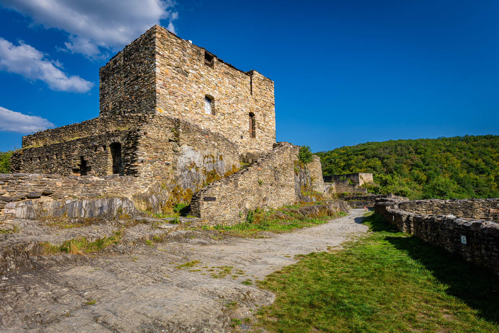
M 40 128 L 52 127 L 54 124 L 47 119 L 39 116 L 28 116 L 0 106 L 0 131 L 31 133 L 31 131 L 36 132 Z

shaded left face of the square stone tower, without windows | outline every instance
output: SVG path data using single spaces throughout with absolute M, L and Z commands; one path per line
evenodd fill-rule
M 99 116 L 155 113 L 154 39 L 149 29 L 99 69 Z

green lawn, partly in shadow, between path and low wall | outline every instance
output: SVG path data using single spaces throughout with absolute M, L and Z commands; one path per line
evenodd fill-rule
M 497 276 L 391 232 L 377 214 L 364 223 L 372 235 L 334 253 L 297 256 L 258 282 L 276 294 L 258 310 L 259 325 L 286 333 L 499 332 Z

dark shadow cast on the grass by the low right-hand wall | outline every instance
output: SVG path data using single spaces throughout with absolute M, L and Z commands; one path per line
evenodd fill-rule
M 384 218 L 371 220 L 374 232 L 396 233 L 396 227 Z M 440 246 L 420 238 L 385 237 L 397 250 L 423 264 L 441 283 L 449 286 L 446 293 L 478 311 L 481 318 L 499 324 L 499 278 L 494 273 L 469 263 Z

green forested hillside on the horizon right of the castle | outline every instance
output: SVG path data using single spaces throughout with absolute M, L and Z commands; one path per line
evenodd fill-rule
M 315 155 L 324 176 L 376 175 L 381 187 L 370 192 L 412 199 L 499 197 L 499 135 L 367 142 Z

